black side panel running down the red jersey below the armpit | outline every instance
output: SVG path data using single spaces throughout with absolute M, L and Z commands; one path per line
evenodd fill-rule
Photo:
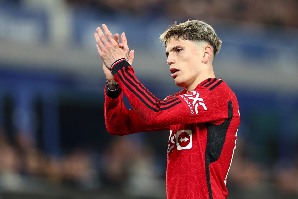
M 209 198 L 212 199 L 209 165 L 218 160 L 224 147 L 226 132 L 233 117 L 232 101 L 228 102 L 228 118 L 220 125 L 207 124 L 207 144 L 205 152 L 206 178 Z

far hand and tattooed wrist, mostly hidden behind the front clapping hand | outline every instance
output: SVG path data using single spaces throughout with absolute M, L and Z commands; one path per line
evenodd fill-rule
M 123 38 L 123 33 L 121 35 L 121 39 L 122 38 Z M 118 33 L 116 33 L 114 35 L 114 39 L 117 43 L 119 43 L 119 34 Z M 122 48 L 123 44 L 119 43 L 118 46 L 120 48 Z M 97 47 L 97 50 L 98 50 L 98 48 L 99 48 L 98 44 L 96 45 L 96 47 Z M 134 50 L 131 50 L 129 55 L 128 55 L 127 61 L 130 65 L 132 65 L 133 60 L 134 60 Z M 107 79 L 107 82 L 109 84 L 109 88 L 110 89 L 116 89 L 118 87 L 118 83 L 114 80 L 114 75 L 111 73 L 111 70 L 109 69 L 109 67 L 104 64 L 104 62 L 103 62 L 103 72 L 104 72 L 105 77 Z

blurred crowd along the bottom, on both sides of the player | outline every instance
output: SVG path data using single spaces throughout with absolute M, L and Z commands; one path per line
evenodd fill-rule
M 46 183 L 72 189 L 88 191 L 112 187 L 119 192 L 163 198 L 165 167 L 156 164 L 154 147 L 121 136 L 111 139 L 101 152 L 74 148 L 67 154 L 53 156 L 38 149 L 30 137 L 15 134 L 13 139 L 8 139 L 5 129 L 1 128 L 0 190 L 24 189 L 24 179 L 40 178 Z M 262 190 L 264 184 L 270 183 L 272 191 L 298 193 L 298 158 L 291 167 L 268 167 L 249 158 L 247 147 L 238 139 L 227 181 L 232 192 Z M 165 163 L 166 153 L 162 161 Z

